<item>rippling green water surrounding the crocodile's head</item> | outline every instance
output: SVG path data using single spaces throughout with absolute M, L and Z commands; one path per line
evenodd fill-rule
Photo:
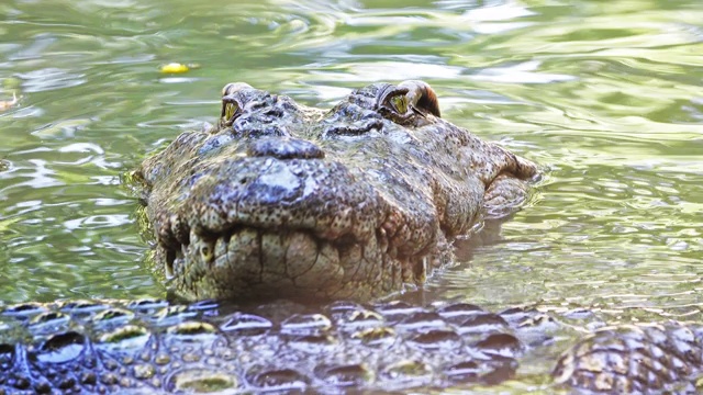
M 425 302 L 700 318 L 696 0 L 5 0 L 0 15 L 0 100 L 21 95 L 0 112 L 3 303 L 163 296 L 120 176 L 213 120 L 226 82 L 331 106 L 424 79 L 444 117 L 548 170 Z M 160 74 L 171 61 L 200 67 Z

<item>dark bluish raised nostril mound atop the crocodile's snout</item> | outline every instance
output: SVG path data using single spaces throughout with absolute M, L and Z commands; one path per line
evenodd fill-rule
M 250 157 L 277 159 L 321 159 L 325 153 L 316 144 L 291 137 L 264 137 L 249 144 L 246 154 Z

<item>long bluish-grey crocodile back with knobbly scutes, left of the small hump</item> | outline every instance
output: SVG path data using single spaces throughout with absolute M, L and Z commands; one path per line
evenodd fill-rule
M 537 314 L 346 302 L 313 312 L 290 303 L 254 312 L 159 301 L 10 306 L 0 309 L 0 394 L 494 384 L 514 375 L 524 351 L 514 323 Z

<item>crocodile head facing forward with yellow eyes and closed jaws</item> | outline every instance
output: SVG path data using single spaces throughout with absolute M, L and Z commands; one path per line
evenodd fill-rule
M 454 238 L 518 207 L 537 173 L 405 81 L 330 111 L 230 83 L 215 126 L 135 176 L 176 295 L 368 300 L 450 262 Z

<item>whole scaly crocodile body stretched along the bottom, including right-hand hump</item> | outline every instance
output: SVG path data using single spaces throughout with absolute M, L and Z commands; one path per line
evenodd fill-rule
M 526 358 L 549 369 L 569 330 L 534 309 L 494 314 L 466 303 L 23 304 L 0 311 L 0 394 L 486 387 L 524 380 Z M 678 324 L 606 327 L 563 352 L 551 372 L 529 369 L 524 388 L 694 394 L 702 335 Z

